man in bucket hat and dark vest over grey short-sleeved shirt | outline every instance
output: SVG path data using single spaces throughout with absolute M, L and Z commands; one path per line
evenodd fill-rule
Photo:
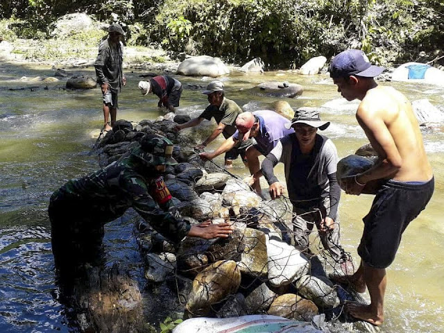
M 291 123 L 285 126 L 293 128 L 294 133 L 280 139 L 266 155 L 262 170 L 246 178 L 246 182 L 251 185 L 264 175 L 270 185 L 271 198 L 279 198 L 284 186 L 274 175 L 273 168 L 282 162 L 293 205 L 296 247 L 309 252 L 309 234 L 316 225 L 323 247 L 338 264 L 336 269 L 352 273 L 352 262 L 339 241 L 341 188 L 336 180 L 338 153 L 332 140 L 317 133 L 318 129 L 325 130 L 330 126 L 330 121 L 321 121 L 315 109 L 300 108 Z

